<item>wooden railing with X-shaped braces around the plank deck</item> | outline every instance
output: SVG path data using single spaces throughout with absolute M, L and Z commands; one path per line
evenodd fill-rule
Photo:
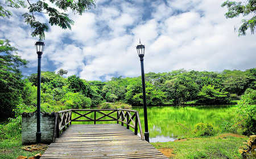
M 72 118 L 73 114 L 73 118 Z M 126 124 L 127 129 L 134 129 L 134 134 L 138 135 L 138 129 L 141 134 L 141 139 L 144 140 L 141 120 L 139 112 L 130 109 L 69 109 L 58 111 L 55 119 L 54 139 L 59 137 L 67 127 L 73 122 L 106 122 L 115 121 Z

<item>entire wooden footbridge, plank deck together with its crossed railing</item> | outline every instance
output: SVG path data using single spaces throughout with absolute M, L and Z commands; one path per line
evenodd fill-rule
M 73 124 L 93 122 L 94 124 Z M 96 124 L 96 123 L 100 124 Z M 101 122 L 115 122 L 101 124 Z M 121 124 L 119 124 L 121 123 Z M 134 132 L 130 130 L 133 128 Z M 138 136 L 138 129 L 141 137 Z M 56 113 L 55 141 L 46 158 L 167 158 L 144 140 L 139 113 L 127 109 L 71 109 Z

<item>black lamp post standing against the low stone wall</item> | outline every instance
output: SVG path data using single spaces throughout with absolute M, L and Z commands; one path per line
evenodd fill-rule
M 44 51 L 44 42 L 41 40 L 35 43 L 36 53 L 38 54 L 38 97 L 37 97 L 37 132 L 36 143 L 41 143 L 41 128 L 40 128 L 40 103 L 41 103 L 41 58 Z

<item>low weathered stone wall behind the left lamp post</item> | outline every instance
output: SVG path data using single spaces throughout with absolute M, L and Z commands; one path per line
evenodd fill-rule
M 36 143 L 37 113 L 22 114 L 22 144 Z M 53 141 L 53 130 L 55 125 L 55 113 L 41 113 L 41 143 L 50 144 Z

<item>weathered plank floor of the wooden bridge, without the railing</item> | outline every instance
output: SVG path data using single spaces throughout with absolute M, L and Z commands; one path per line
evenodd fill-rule
M 71 124 L 46 158 L 167 158 L 121 124 Z

